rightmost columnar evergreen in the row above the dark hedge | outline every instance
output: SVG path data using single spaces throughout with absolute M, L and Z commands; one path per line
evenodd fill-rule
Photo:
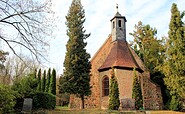
M 49 93 L 56 95 L 56 70 L 52 70 Z

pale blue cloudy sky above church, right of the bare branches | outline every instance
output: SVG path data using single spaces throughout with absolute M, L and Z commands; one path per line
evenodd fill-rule
M 66 53 L 66 19 L 72 0 L 53 0 L 53 10 L 58 17 L 57 29 L 54 31 L 54 39 L 50 41 L 49 67 L 56 68 L 58 74 L 63 72 L 63 62 Z M 84 27 L 91 36 L 87 41 L 87 52 L 94 56 L 96 51 L 111 33 L 110 19 L 116 13 L 116 4 L 119 13 L 126 17 L 127 41 L 132 41 L 129 35 L 133 32 L 134 25 L 138 21 L 150 24 L 158 30 L 157 37 L 167 36 L 170 21 L 172 3 L 176 3 L 180 11 L 185 10 L 185 0 L 81 0 L 85 9 L 86 22 Z

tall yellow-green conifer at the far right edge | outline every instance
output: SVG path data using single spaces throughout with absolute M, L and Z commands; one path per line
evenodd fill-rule
M 181 100 L 185 99 L 185 28 L 182 21 L 183 15 L 175 3 L 171 8 L 171 19 L 169 24 L 168 39 L 166 43 L 166 52 L 164 64 L 162 66 L 165 75 L 164 81 L 167 85 L 172 110 L 179 110 Z M 177 98 L 174 105 L 174 98 Z

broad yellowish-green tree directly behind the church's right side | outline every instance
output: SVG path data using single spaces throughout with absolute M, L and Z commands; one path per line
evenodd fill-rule
M 130 33 L 134 37 L 134 50 L 143 61 L 147 70 L 150 71 L 150 78 L 161 87 L 163 103 L 166 104 L 169 96 L 167 87 L 164 84 L 164 74 L 161 66 L 164 62 L 165 38 L 157 39 L 156 28 L 144 25 L 141 21 L 135 25 L 135 30 Z

